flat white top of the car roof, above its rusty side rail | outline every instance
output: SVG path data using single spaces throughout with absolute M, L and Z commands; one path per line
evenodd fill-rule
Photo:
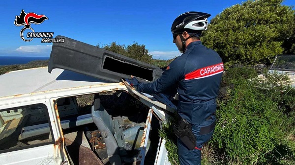
M 48 67 L 10 71 L 0 75 L 0 97 L 109 83 L 73 71 Z

